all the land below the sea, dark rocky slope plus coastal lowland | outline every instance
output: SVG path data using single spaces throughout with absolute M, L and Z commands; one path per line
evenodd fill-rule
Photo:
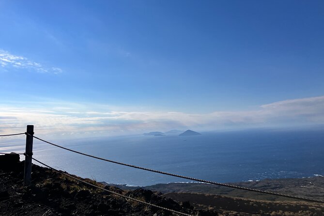
M 4 216 L 168 216 L 135 201 L 84 185 L 62 173 L 32 166 L 32 184 L 23 186 L 24 162 L 0 156 L 0 215 Z M 159 184 L 143 188 L 102 185 L 124 195 L 199 216 L 324 216 L 324 204 L 278 198 L 206 184 Z M 262 190 L 323 199 L 324 178 L 237 183 Z M 158 192 L 153 192 L 158 191 Z

